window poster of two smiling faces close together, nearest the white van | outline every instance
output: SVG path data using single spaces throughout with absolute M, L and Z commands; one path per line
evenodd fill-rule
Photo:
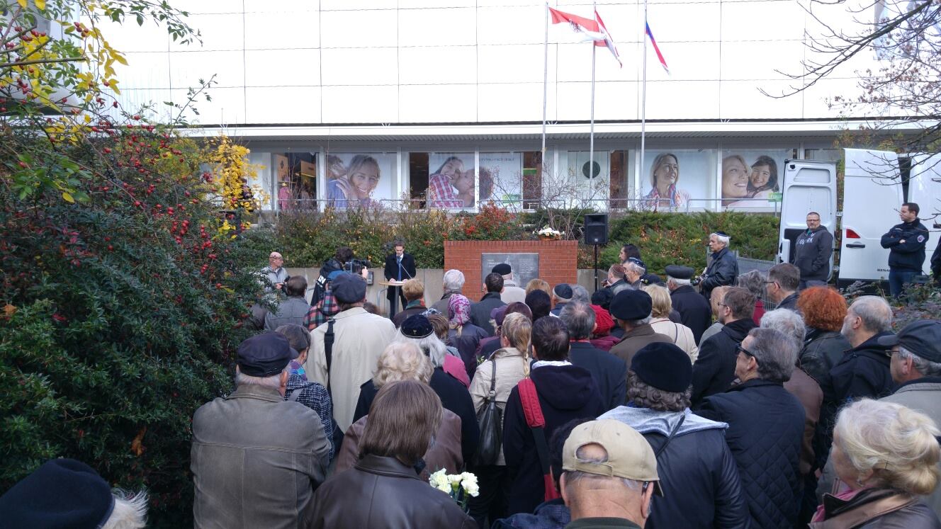
M 789 149 L 725 151 L 722 158 L 722 205 L 726 208 L 774 208 L 780 201 L 781 175 Z

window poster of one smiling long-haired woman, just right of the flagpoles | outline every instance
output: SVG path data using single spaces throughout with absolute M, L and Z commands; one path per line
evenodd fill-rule
M 641 207 L 669 211 L 710 207 L 710 181 L 715 173 L 712 151 L 646 151 L 641 168 Z M 693 200 L 692 202 L 690 200 Z

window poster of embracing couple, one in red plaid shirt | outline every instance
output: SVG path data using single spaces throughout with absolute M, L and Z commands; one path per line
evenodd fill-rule
M 432 152 L 428 155 L 428 192 L 425 195 L 428 207 L 473 207 L 476 180 L 473 152 Z

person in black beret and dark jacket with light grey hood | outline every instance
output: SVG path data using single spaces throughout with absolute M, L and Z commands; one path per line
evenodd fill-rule
M 598 420 L 629 425 L 657 455 L 663 496 L 650 505 L 647 529 L 744 529 L 748 507 L 726 444 L 728 425 L 690 410 L 692 383 L 693 365 L 685 351 L 673 344 L 647 345 L 630 363 L 630 404 Z

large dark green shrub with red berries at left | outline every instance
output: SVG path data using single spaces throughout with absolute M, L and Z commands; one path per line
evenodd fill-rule
M 74 457 L 149 489 L 153 524 L 183 526 L 191 418 L 231 391 L 271 243 L 223 228 L 194 144 L 111 130 L 95 148 L 62 147 L 88 168 L 74 182 L 86 200 L 0 185 L 0 493 Z

